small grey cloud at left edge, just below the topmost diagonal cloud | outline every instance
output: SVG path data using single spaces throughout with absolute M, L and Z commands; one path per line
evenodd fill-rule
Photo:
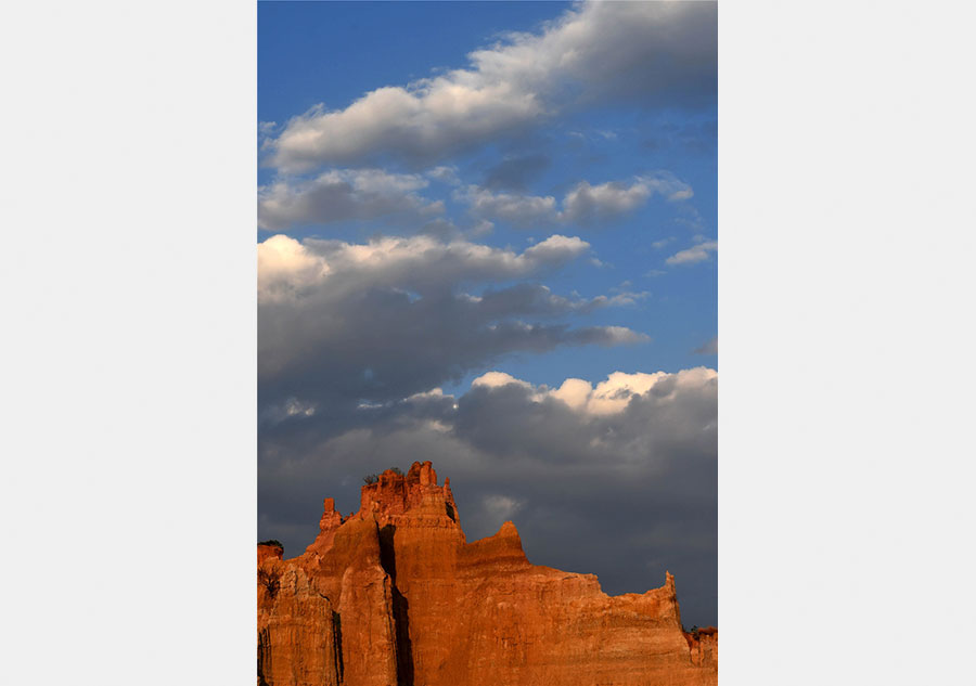
M 439 215 L 442 203 L 427 203 L 416 194 L 428 183 L 420 174 L 380 169 L 336 169 L 312 180 L 277 181 L 258 189 L 258 225 L 278 231 L 397 213 Z

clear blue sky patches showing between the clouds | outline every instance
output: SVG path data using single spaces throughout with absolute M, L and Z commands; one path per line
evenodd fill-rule
M 280 128 L 319 103 L 341 108 L 375 88 L 464 67 L 471 50 L 490 44 L 504 31 L 538 29 L 568 7 L 556 2 L 260 2 L 258 118 Z M 647 334 L 652 341 L 519 355 L 500 361 L 497 368 L 532 383 L 557 385 L 567 374 L 596 381 L 617 370 L 676 372 L 717 364 L 716 355 L 694 352 L 716 335 L 716 259 L 711 256 L 678 267 L 666 262 L 694 246 L 696 237 L 711 241 L 717 235 L 716 125 L 714 105 L 695 112 L 598 106 L 560 118 L 527 140 L 489 144 L 438 163 L 455 165 L 465 183 L 478 183 L 505 155 L 538 159 L 540 165 L 544 159 L 543 168 L 526 174 L 525 193 L 539 196 L 558 197 L 580 180 L 596 184 L 657 170 L 670 171 L 693 189 L 694 196 L 688 202 L 654 198 L 607 226 L 557 228 L 590 243 L 593 257 L 605 266 L 575 264 L 547 284 L 563 294 L 576 290 L 587 297 L 615 288 L 646 293 L 634 306 L 596 312 L 588 321 L 629 326 Z M 391 168 L 404 170 L 403 165 Z M 259 168 L 262 185 L 275 176 L 274 168 Z M 449 217 L 463 218 L 465 204 L 453 202 L 451 190 L 432 184 L 424 196 L 444 200 Z M 516 249 L 554 232 L 512 228 L 503 221 L 495 224 L 481 242 Z M 324 226 L 308 222 L 286 231 L 293 236 L 349 240 L 375 232 L 407 233 L 395 224 L 375 221 Z M 260 230 L 258 238 L 272 233 L 280 231 Z M 667 243 L 655 247 L 662 241 Z M 459 387 L 473 375 L 466 375 Z

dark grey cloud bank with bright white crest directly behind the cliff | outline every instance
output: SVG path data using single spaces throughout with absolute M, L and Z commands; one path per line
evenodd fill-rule
M 686 623 L 711 623 L 717 388 L 706 367 L 552 388 L 489 372 L 457 398 L 436 389 L 359 410 L 338 433 L 304 417 L 262 435 L 259 533 L 297 554 L 322 497 L 349 512 L 362 475 L 432 460 L 470 541 L 514 520 L 532 562 L 598 573 L 608 593 L 660 585 L 669 569 Z

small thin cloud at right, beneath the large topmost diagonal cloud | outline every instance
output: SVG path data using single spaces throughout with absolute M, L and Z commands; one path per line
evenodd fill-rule
M 563 197 L 562 208 L 552 196 L 496 192 L 468 185 L 454 191 L 454 199 L 467 202 L 476 217 L 505 221 L 516 226 L 545 223 L 593 225 L 614 221 L 643 207 L 659 195 L 668 200 L 685 200 L 692 187 L 668 171 L 634 177 L 631 181 L 607 181 L 592 185 L 580 181 Z

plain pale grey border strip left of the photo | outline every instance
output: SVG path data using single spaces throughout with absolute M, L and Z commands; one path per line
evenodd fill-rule
M 253 684 L 256 8 L 15 2 L 8 684 Z

